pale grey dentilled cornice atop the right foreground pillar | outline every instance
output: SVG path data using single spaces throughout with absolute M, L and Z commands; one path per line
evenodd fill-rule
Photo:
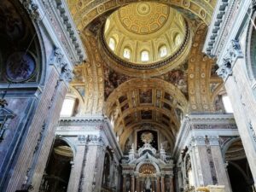
M 212 23 L 209 26 L 203 52 L 218 57 L 218 65 L 223 65 L 232 41 L 239 43 L 239 36 L 251 12 L 251 0 L 218 0 Z

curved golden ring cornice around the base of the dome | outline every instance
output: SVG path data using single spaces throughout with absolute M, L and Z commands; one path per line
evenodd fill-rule
M 186 33 L 183 38 L 183 43 L 179 49 L 177 49 L 177 51 L 172 55 L 166 57 L 166 59 L 163 61 L 156 61 L 148 64 L 136 64 L 130 61 L 125 61 L 119 58 L 119 56 L 115 55 L 113 51 L 108 48 L 108 44 L 104 39 L 104 28 L 102 27 L 98 38 L 100 49 L 102 49 L 102 58 L 109 65 L 109 67 L 113 67 L 113 69 L 117 70 L 119 73 L 125 73 L 131 77 L 141 76 L 142 73 L 144 77 L 152 77 L 166 73 L 166 71 L 170 71 L 171 68 L 182 64 L 185 61 L 184 58 L 186 58 L 186 55 L 189 54 L 189 48 L 192 42 L 192 34 L 189 30 L 188 21 L 186 20 L 185 25 Z

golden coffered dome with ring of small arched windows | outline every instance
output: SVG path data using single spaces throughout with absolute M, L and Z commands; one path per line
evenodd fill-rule
M 162 3 L 131 3 L 118 9 L 108 17 L 102 36 L 104 52 L 117 62 L 109 63 L 131 76 L 164 73 L 189 53 L 189 29 L 183 15 Z

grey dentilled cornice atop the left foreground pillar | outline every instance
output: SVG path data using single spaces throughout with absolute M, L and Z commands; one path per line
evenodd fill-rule
M 73 23 L 72 16 L 65 0 L 33 0 L 38 3 L 38 10 L 44 13 L 42 24 L 49 32 L 55 46 L 65 50 L 71 66 L 86 59 L 84 46 L 79 32 Z M 54 29 L 54 30 L 53 30 Z

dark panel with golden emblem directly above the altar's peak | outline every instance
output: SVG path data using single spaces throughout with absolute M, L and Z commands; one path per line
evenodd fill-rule
M 137 131 L 137 149 L 142 148 L 145 143 L 151 144 L 153 148 L 158 150 L 158 134 L 153 130 Z

